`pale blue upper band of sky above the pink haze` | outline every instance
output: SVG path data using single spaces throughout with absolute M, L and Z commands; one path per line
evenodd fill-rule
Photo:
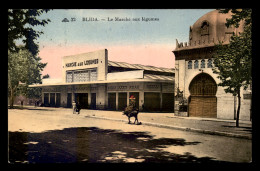
M 201 16 L 214 9 L 70 9 L 52 10 L 41 18 L 51 22 L 39 29 L 44 32 L 38 38 L 46 45 L 131 45 L 172 44 L 188 41 L 189 26 Z M 83 17 L 94 17 L 100 21 L 82 21 Z M 107 21 L 107 18 L 159 18 L 159 21 Z M 64 18 L 74 22 L 62 22 Z M 102 21 L 101 19 L 105 19 Z

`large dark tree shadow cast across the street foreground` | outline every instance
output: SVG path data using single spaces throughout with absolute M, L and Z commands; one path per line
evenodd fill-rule
M 9 132 L 10 163 L 218 163 L 166 152 L 167 146 L 197 145 L 184 139 L 154 139 L 147 132 L 120 132 L 96 127 L 66 128 L 44 133 Z

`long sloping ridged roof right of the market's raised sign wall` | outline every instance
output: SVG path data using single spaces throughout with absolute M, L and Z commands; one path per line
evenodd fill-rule
M 108 61 L 108 66 L 174 73 L 174 69 L 171 68 L 154 67 L 154 66 L 140 65 L 140 64 L 129 64 L 126 62 Z

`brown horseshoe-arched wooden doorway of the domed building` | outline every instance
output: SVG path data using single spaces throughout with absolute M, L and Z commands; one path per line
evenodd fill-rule
M 189 116 L 217 117 L 217 84 L 209 74 L 201 73 L 194 77 L 189 91 Z

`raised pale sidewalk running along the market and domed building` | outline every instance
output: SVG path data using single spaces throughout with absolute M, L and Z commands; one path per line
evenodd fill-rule
M 102 111 L 82 109 L 80 115 L 85 117 L 117 120 L 128 122 L 121 111 Z M 179 117 L 173 113 L 143 113 L 138 115 L 138 121 L 142 125 L 157 126 L 162 128 L 178 129 L 185 131 L 200 132 L 212 135 L 221 135 L 237 138 L 252 139 L 251 121 L 239 121 L 239 127 L 236 127 L 235 120 L 223 120 L 213 118 L 198 117 Z M 134 118 L 131 118 L 134 122 Z

